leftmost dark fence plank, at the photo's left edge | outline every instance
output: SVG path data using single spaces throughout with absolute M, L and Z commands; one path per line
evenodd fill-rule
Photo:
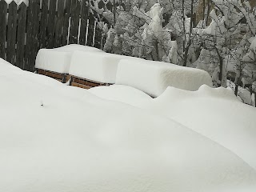
M 0 58 L 6 59 L 6 15 L 7 3 L 0 1 Z

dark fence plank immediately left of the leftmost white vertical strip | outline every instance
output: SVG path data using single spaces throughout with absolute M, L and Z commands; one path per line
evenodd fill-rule
M 71 13 L 71 0 L 66 1 L 65 13 L 63 18 L 63 33 L 62 33 L 62 46 L 66 46 L 68 39 L 69 23 L 70 23 L 70 13 Z

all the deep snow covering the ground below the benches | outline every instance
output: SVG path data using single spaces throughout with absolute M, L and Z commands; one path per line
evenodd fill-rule
M 229 90 L 87 91 L 2 60 L 0 84 L 0 191 L 256 191 L 256 110 Z

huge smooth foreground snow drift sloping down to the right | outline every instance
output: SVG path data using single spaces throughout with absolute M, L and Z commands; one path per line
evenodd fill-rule
M 256 190 L 241 158 L 172 119 L 0 67 L 0 191 Z

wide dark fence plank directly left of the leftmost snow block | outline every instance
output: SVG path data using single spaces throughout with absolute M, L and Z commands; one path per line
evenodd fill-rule
M 24 70 L 29 71 L 34 71 L 34 62 L 38 54 L 39 3 L 38 0 L 30 0 L 30 6 L 28 7 Z

